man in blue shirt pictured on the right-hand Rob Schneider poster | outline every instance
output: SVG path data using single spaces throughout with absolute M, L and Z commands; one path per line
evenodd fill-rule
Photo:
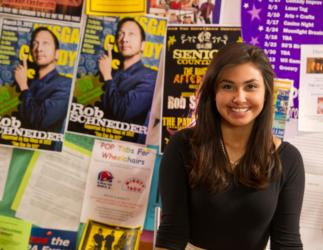
M 111 46 L 99 59 L 99 71 L 106 84 L 102 100 L 105 116 L 148 126 L 157 73 L 141 61 L 145 32 L 135 19 L 126 17 L 118 23 L 115 41 L 121 68 L 112 72 Z

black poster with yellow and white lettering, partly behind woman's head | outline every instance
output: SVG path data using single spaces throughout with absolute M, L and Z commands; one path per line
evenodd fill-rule
M 195 93 L 207 66 L 218 50 L 241 42 L 240 28 L 218 26 L 169 26 L 162 104 L 161 151 L 169 138 L 192 122 Z

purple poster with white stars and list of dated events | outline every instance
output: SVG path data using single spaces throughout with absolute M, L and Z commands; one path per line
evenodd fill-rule
M 294 80 L 290 118 L 298 118 L 300 45 L 323 44 L 323 0 L 242 0 L 241 32 L 262 47 L 279 78 Z

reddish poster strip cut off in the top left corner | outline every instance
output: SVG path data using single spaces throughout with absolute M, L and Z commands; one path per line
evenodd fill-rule
M 83 0 L 1 0 L 0 13 L 80 22 Z

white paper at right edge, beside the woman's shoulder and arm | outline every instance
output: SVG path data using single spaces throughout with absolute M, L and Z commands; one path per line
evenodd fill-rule
M 323 250 L 323 133 L 298 132 L 287 140 L 305 166 L 305 193 L 300 220 L 304 249 Z

